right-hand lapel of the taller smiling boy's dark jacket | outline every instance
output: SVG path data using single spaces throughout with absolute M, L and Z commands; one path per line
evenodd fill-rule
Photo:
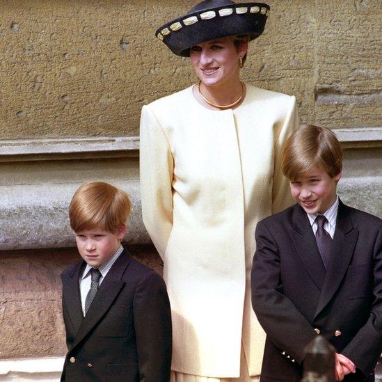
M 353 227 L 349 210 L 340 200 L 338 206 L 337 222 L 335 223 L 335 233 L 333 245 L 329 257 L 328 271 L 321 291 L 319 303 L 315 317 L 323 310 L 326 304 L 331 301 L 333 295 L 347 272 L 354 248 L 358 240 L 358 230 Z

